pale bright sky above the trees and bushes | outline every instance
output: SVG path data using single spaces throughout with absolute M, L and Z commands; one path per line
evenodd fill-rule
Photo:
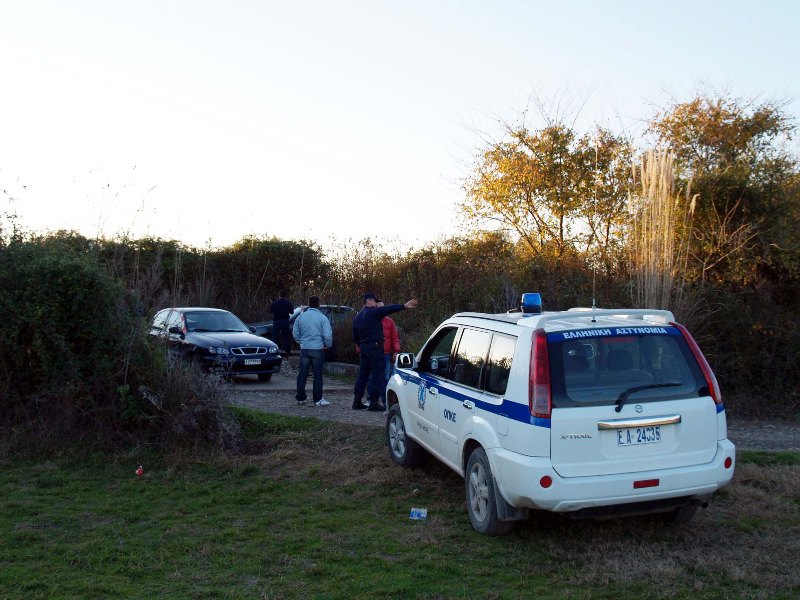
M 635 130 L 698 89 L 800 94 L 786 0 L 0 0 L 0 209 L 223 246 L 456 232 L 532 97 Z

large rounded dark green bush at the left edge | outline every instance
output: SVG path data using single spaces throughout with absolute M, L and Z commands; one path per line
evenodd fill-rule
M 155 356 L 121 283 L 87 254 L 14 241 L 0 289 L 0 426 L 58 441 L 135 428 Z

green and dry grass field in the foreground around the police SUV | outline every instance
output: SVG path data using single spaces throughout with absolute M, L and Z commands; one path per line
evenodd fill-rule
M 0 598 L 800 596 L 798 453 L 742 453 L 683 529 L 539 514 L 490 538 L 458 476 L 393 466 L 378 430 L 237 414 L 257 453 L 2 465 Z

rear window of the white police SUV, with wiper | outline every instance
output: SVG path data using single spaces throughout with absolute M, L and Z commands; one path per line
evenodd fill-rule
M 606 327 L 547 335 L 553 406 L 697 397 L 705 379 L 680 331 L 669 326 Z

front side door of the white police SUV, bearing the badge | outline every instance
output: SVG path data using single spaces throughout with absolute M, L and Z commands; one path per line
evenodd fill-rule
M 419 354 L 417 378 L 404 386 L 409 413 L 408 429 L 433 452 L 439 450 L 439 394 L 447 380 L 458 327 L 443 327 L 431 337 Z M 416 385 L 414 385 L 416 384 Z

